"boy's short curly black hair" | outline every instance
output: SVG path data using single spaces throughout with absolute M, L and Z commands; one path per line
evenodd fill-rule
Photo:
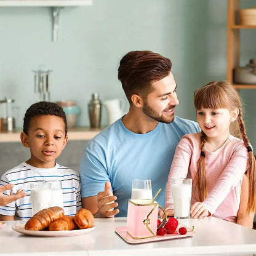
M 66 124 L 66 114 L 63 111 L 63 108 L 54 102 L 37 102 L 31 105 L 25 113 L 23 119 L 23 132 L 28 135 L 28 129 L 30 127 L 30 121 L 34 116 L 59 116 L 63 119 L 65 124 L 65 136 L 68 133 L 68 126 Z

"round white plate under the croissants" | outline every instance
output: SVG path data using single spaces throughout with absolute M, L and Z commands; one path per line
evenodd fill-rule
M 80 236 L 81 234 L 86 234 L 95 229 L 85 228 L 84 230 L 66 230 L 66 231 L 49 231 L 49 230 L 25 230 L 25 225 L 12 226 L 12 229 L 18 233 L 26 234 L 28 236 Z

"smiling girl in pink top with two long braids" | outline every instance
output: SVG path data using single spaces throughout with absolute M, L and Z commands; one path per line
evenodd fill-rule
M 201 132 L 178 143 L 166 185 L 167 214 L 174 214 L 170 179 L 188 177 L 193 180 L 191 217 L 212 215 L 252 228 L 255 158 L 239 94 L 230 82 L 210 82 L 196 90 L 194 106 Z

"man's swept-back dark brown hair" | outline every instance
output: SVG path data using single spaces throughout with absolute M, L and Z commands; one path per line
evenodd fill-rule
M 131 102 L 132 94 L 147 97 L 151 92 L 152 82 L 169 75 L 172 62 L 169 58 L 150 50 L 128 52 L 120 61 L 118 79 L 127 99 Z

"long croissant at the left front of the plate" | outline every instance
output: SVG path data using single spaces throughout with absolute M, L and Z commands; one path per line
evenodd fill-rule
M 26 222 L 25 230 L 43 230 L 63 215 L 64 210 L 58 206 L 42 209 Z

